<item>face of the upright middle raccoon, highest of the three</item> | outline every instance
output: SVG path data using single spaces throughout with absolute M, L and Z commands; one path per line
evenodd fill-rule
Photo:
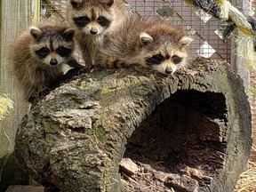
M 93 0 L 94 1 L 94 0 Z M 72 3 L 73 2 L 73 3 Z M 111 12 L 111 6 L 114 4 L 114 0 L 101 0 L 98 4 L 87 2 L 80 3 L 84 4 L 83 8 L 78 10 L 79 3 L 71 1 L 74 8 L 73 21 L 76 28 L 82 30 L 86 35 L 97 36 L 104 32 L 113 20 L 113 13 Z M 90 6 L 89 6 L 90 3 Z

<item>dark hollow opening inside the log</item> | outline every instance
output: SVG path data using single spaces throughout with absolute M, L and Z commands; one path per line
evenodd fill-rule
M 224 165 L 227 145 L 221 132 L 226 115 L 222 93 L 182 90 L 164 100 L 127 140 L 124 158 L 140 166 L 140 176 L 133 175 L 138 182 L 135 188 L 142 189 L 143 183 L 150 182 L 145 180 L 152 178 L 162 190 L 207 188 Z M 126 182 L 124 188 L 133 187 L 134 183 Z

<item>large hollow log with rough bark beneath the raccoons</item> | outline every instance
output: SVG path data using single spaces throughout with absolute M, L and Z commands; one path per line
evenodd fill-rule
M 122 68 L 73 77 L 33 103 L 15 155 L 49 191 L 231 192 L 251 147 L 242 80 L 200 59 L 172 76 Z M 122 158 L 134 172 L 119 169 Z

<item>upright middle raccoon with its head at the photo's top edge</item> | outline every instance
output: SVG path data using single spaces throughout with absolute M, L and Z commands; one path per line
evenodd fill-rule
M 76 30 L 85 64 L 92 66 L 106 33 L 116 30 L 128 17 L 123 0 L 70 0 L 68 21 Z

